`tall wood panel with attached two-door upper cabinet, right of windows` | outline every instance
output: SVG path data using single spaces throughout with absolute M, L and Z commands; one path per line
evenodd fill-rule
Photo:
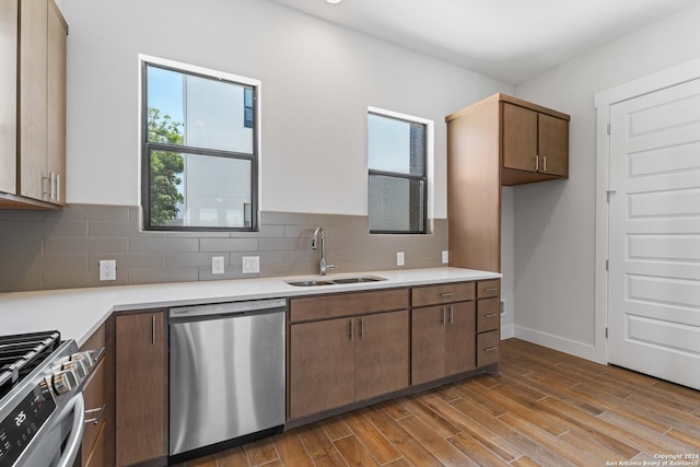
M 501 270 L 501 186 L 567 178 L 569 118 L 505 94 L 445 117 L 450 266 Z

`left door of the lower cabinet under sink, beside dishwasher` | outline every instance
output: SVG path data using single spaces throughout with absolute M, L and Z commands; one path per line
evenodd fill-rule
M 291 419 L 354 401 L 354 326 L 337 318 L 290 327 Z

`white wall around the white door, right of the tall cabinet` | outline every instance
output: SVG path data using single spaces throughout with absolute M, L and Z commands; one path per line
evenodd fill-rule
M 515 335 L 605 360 L 594 315 L 597 92 L 700 57 L 700 5 L 516 86 L 571 115 L 570 179 L 514 188 Z M 603 322 L 603 323 L 600 323 Z

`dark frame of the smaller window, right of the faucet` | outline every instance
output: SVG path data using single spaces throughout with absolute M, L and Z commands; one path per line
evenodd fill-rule
M 385 117 L 385 118 L 392 118 L 395 120 L 400 120 L 400 121 L 406 121 L 408 124 L 418 124 L 418 125 L 422 125 L 424 127 L 424 145 L 423 145 L 423 151 L 422 151 L 422 165 L 423 165 L 423 172 L 421 175 L 416 175 L 416 174 L 406 174 L 406 173 L 400 173 L 400 172 L 390 172 L 390 171 L 380 171 L 380 170 L 374 170 L 374 168 L 370 168 L 370 161 L 369 161 L 369 150 L 368 150 L 368 218 L 370 217 L 370 209 L 369 209 L 369 205 L 371 202 L 370 200 L 370 191 L 369 191 L 369 187 L 370 187 L 370 178 L 372 176 L 385 176 L 385 177 L 392 177 L 392 178 L 400 178 L 400 179 L 407 179 L 407 180 L 420 180 L 423 182 L 423 189 L 421 192 L 421 205 L 422 205 L 422 209 L 421 209 L 421 225 L 422 229 L 420 230 L 406 230 L 406 231 L 399 231 L 399 230 L 376 230 L 376 229 L 372 229 L 372 222 L 370 220 L 370 234 L 371 235 L 425 235 L 428 234 L 428 201 L 429 201 L 429 197 L 428 194 L 430 191 L 430 187 L 429 187 L 429 179 L 430 179 L 430 166 L 429 163 L 430 161 L 432 161 L 432 152 L 433 152 L 433 132 L 434 132 L 434 122 L 433 120 L 429 120 L 425 118 L 421 118 L 421 117 L 415 117 L 411 115 L 406 115 L 406 114 L 400 114 L 394 110 L 387 110 L 387 109 L 383 109 L 383 108 L 378 108 L 378 107 L 368 107 L 368 118 L 369 116 L 373 114 L 373 115 L 377 115 L 380 117 Z M 368 133 L 369 133 L 369 125 L 368 125 Z

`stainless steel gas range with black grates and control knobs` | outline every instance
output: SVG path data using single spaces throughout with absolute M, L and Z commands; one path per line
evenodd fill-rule
M 81 383 L 102 353 L 58 331 L 0 336 L 0 467 L 79 465 Z

